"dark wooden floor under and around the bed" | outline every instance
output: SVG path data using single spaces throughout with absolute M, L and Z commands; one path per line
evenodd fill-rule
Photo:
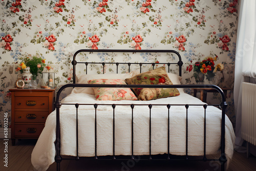
M 12 146 L 11 141 L 8 142 L 8 168 L 4 166 L 4 141 L 0 140 L 0 170 L 10 171 L 34 171 L 31 164 L 31 153 L 36 140 L 22 141 L 16 140 L 16 145 Z M 216 156 L 217 157 L 217 156 Z M 53 163 L 49 169 L 56 170 L 56 165 Z M 88 171 L 155 171 L 155 170 L 202 170 L 202 171 L 216 171 L 220 170 L 217 162 L 168 162 L 166 161 L 94 161 L 94 160 L 81 160 L 81 161 L 62 161 L 61 171 L 65 170 L 88 170 Z M 256 170 L 256 157 L 251 156 L 246 158 L 246 154 L 234 152 L 233 159 L 229 165 L 228 171 L 254 171 Z

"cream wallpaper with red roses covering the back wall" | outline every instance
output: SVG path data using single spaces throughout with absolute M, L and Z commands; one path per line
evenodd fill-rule
M 196 84 L 195 63 L 211 57 L 214 67 L 224 66 L 212 76 L 214 83 L 233 88 L 237 0 L 1 0 L 0 4 L 0 127 L 4 113 L 11 118 L 9 89 L 24 57 L 46 59 L 56 72 L 59 89 L 72 82 L 71 60 L 79 49 L 173 49 L 184 62 L 183 84 Z M 132 60 L 129 54 L 94 55 L 98 59 L 93 60 L 100 61 Z M 90 58 L 90 54 L 79 56 L 84 61 Z M 138 61 L 175 60 L 172 55 L 139 56 Z M 106 70 L 112 71 L 111 67 Z M 94 66 L 93 71 L 99 73 L 102 67 Z M 218 99 L 217 94 L 209 94 L 207 101 Z M 234 124 L 232 91 L 227 103 L 227 115 Z

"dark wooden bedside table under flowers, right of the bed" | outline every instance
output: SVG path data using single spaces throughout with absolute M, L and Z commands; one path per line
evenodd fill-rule
M 221 88 L 221 89 L 225 95 L 225 100 L 226 100 L 227 91 L 232 89 L 231 88 Z M 192 90 L 194 90 L 194 97 L 197 97 L 197 92 L 200 92 L 200 100 L 203 102 L 206 102 L 207 93 L 218 92 L 216 89 L 212 89 L 212 88 L 193 88 Z

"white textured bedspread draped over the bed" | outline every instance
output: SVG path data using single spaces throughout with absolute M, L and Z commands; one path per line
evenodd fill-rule
M 199 99 L 185 93 L 177 97 L 151 101 L 96 101 L 94 95 L 70 94 L 62 103 L 105 103 L 105 104 L 204 104 Z M 78 108 L 79 156 L 95 155 L 94 127 L 95 110 L 93 105 L 80 105 Z M 97 156 L 113 155 L 113 109 L 99 105 L 97 111 Z M 216 154 L 221 142 L 221 110 L 214 106 L 206 109 L 206 154 Z M 76 113 L 75 106 L 62 105 L 60 108 L 61 155 L 76 156 Z M 131 107 L 115 108 L 115 155 L 132 154 Z M 167 108 L 152 108 L 152 155 L 167 153 Z M 185 155 L 186 109 L 184 106 L 170 107 L 170 154 Z M 228 161 L 233 155 L 234 132 L 226 117 L 225 153 Z M 54 162 L 56 139 L 56 111 L 46 121 L 32 152 L 31 160 L 37 170 L 46 170 Z M 203 155 L 204 109 L 203 106 L 188 108 L 188 155 Z M 134 108 L 134 155 L 149 154 L 149 110 L 147 106 Z

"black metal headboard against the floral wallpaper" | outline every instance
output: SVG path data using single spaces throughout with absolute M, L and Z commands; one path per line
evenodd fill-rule
M 110 64 L 116 64 L 116 67 L 117 67 L 117 73 L 118 73 L 118 65 L 119 64 L 127 64 L 129 66 L 129 72 L 130 72 L 130 66 L 131 64 L 139 64 L 140 65 L 140 72 L 141 72 L 141 67 L 142 65 L 144 64 L 151 64 L 153 66 L 153 69 L 154 69 L 154 66 L 156 65 L 156 63 L 153 63 L 153 62 L 147 62 L 147 63 L 131 63 L 131 62 L 77 62 L 76 61 L 76 55 L 78 53 L 81 53 L 81 52 L 132 52 L 132 53 L 175 53 L 178 57 L 179 57 L 179 61 L 178 62 L 174 62 L 174 63 L 170 63 L 170 62 L 166 62 L 166 63 L 157 63 L 158 65 L 161 65 L 161 64 L 165 64 L 168 66 L 168 72 L 169 72 L 169 66 L 172 64 L 172 65 L 178 65 L 179 66 L 179 75 L 181 76 L 181 67 L 183 65 L 183 62 L 181 60 L 181 56 L 180 54 L 175 51 L 175 50 L 117 50 L 117 49 L 98 49 L 98 50 L 95 50 L 95 49 L 81 49 L 81 50 L 78 50 L 75 52 L 74 54 L 74 57 L 73 57 L 73 61 L 72 61 L 72 65 L 73 65 L 73 82 L 75 83 L 75 75 L 76 75 L 76 65 L 77 63 L 83 63 L 86 65 L 86 74 L 87 74 L 87 66 L 89 63 L 100 63 L 102 66 L 103 66 L 103 74 L 104 74 L 104 66 L 105 66 L 105 63 L 110 63 Z

